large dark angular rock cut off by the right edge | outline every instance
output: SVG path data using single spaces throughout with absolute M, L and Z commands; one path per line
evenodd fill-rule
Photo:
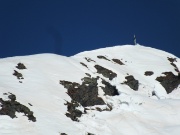
M 157 77 L 156 80 L 165 88 L 167 94 L 171 93 L 180 85 L 179 75 L 174 75 L 172 72 L 164 72 L 165 76 Z

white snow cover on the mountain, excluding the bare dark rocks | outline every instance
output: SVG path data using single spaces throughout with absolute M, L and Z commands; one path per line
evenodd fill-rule
M 99 59 L 100 55 L 110 61 Z M 180 85 L 167 94 L 156 80 L 163 72 L 178 75 L 168 57 L 176 58 L 175 64 L 180 70 L 180 59 L 176 56 L 140 45 L 103 48 L 71 57 L 37 54 L 0 59 L 0 98 L 8 100 L 4 95 L 8 92 L 16 95 L 16 101 L 33 111 L 37 120 L 30 121 L 23 113 L 16 113 L 17 118 L 13 119 L 0 115 L 0 135 L 179 135 Z M 119 59 L 124 65 L 112 59 Z M 27 69 L 17 69 L 18 63 L 23 63 Z M 95 65 L 113 71 L 117 77 L 109 80 L 97 73 Z M 18 80 L 13 75 L 14 70 L 24 79 Z M 145 76 L 146 71 L 153 71 L 153 75 Z M 112 106 L 112 110 L 88 110 L 76 122 L 65 115 L 67 106 L 64 104 L 71 98 L 59 81 L 81 83 L 87 76 L 85 73 L 100 76 L 116 86 L 120 95 L 104 96 L 100 88 L 103 84 L 98 80 L 99 96 Z M 127 75 L 133 75 L 139 81 L 138 91 L 122 84 Z M 156 96 L 152 96 L 153 91 Z

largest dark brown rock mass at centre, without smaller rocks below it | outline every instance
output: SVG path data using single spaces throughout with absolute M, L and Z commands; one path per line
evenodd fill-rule
M 105 104 L 102 98 L 98 97 L 97 78 L 84 77 L 81 85 L 68 81 L 60 83 L 68 90 L 67 94 L 71 99 L 83 107 Z

